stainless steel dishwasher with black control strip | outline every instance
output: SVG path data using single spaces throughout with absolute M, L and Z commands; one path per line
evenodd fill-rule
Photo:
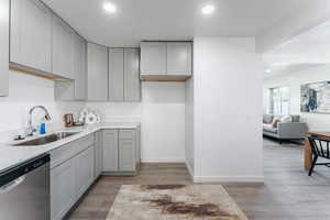
M 50 155 L 0 173 L 0 219 L 48 220 Z

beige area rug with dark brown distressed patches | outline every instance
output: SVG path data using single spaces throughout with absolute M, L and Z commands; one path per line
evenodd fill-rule
M 248 220 L 221 185 L 123 185 L 107 220 Z

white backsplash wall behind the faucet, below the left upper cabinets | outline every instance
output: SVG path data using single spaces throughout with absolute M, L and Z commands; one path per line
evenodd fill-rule
M 64 113 L 77 113 L 84 102 L 55 102 L 54 81 L 9 70 L 9 96 L 0 97 L 0 132 L 26 128 L 31 107 L 42 105 L 47 108 L 52 123 L 63 124 Z M 42 111 L 34 114 L 37 121 Z

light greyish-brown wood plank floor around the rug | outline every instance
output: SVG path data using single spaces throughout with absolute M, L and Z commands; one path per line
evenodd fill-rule
M 330 219 L 330 168 L 302 169 L 302 145 L 264 140 L 265 184 L 222 184 L 250 220 Z M 68 217 L 105 220 L 121 185 L 191 184 L 183 164 L 144 164 L 136 177 L 101 177 Z

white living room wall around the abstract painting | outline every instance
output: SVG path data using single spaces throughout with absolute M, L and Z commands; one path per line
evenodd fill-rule
M 307 82 L 329 81 L 330 65 L 310 67 L 304 70 L 275 75 L 264 80 L 264 89 L 288 86 L 290 88 L 290 113 L 300 114 L 301 120 L 307 122 L 309 130 L 329 131 L 330 114 L 301 113 L 300 112 L 300 85 Z

